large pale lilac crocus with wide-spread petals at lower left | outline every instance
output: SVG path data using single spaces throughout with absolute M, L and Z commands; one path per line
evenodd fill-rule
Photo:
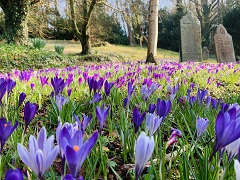
M 30 135 L 29 151 L 22 145 L 17 145 L 19 157 L 39 179 L 43 178 L 46 170 L 52 165 L 58 154 L 58 146 L 54 147 L 54 136 L 47 138 L 47 131 L 42 127 L 37 139 Z

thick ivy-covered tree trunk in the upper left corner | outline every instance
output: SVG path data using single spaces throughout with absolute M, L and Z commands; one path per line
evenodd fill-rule
M 17 45 L 28 44 L 28 12 L 26 2 L 13 1 L 2 7 L 5 14 L 5 35 L 8 43 Z

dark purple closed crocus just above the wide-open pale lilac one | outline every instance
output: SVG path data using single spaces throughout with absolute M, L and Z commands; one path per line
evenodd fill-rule
M 29 101 L 25 104 L 24 107 L 24 120 L 25 120 L 25 131 L 28 128 L 29 123 L 33 120 L 38 109 L 36 103 L 30 103 Z

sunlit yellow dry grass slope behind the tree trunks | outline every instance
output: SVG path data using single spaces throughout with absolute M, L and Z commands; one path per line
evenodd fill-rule
M 47 41 L 45 47 L 46 50 L 54 51 L 55 45 L 64 45 L 65 54 L 76 54 L 81 52 L 81 45 L 75 41 Z M 109 55 L 118 55 L 124 58 L 124 60 L 145 60 L 147 55 L 147 48 L 143 47 L 130 47 L 123 45 L 108 45 L 102 47 L 93 47 L 93 54 L 109 54 Z M 157 58 L 171 58 L 178 60 L 179 54 L 177 52 L 168 51 L 164 49 L 158 49 Z

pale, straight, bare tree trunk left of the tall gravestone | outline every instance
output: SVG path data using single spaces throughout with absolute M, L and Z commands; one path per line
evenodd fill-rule
M 146 63 L 157 63 L 157 41 L 158 41 L 158 0 L 149 2 L 149 30 L 148 30 L 148 51 Z

